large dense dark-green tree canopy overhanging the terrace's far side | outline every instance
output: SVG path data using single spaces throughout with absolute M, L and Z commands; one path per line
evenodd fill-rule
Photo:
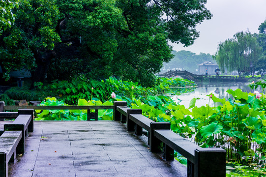
M 21 0 L 15 25 L 0 36 L 4 78 L 28 68 L 37 82 L 85 74 L 151 85 L 153 73 L 173 58 L 168 40 L 188 46 L 199 36 L 196 24 L 211 17 L 205 3 Z

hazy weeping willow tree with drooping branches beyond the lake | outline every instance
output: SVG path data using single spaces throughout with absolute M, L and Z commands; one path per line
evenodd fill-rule
M 224 73 L 237 71 L 239 77 L 243 72 L 250 72 L 254 76 L 254 63 L 262 55 L 262 48 L 259 46 L 256 37 L 249 31 L 237 32 L 234 38 L 230 38 L 218 45 L 214 59 Z

